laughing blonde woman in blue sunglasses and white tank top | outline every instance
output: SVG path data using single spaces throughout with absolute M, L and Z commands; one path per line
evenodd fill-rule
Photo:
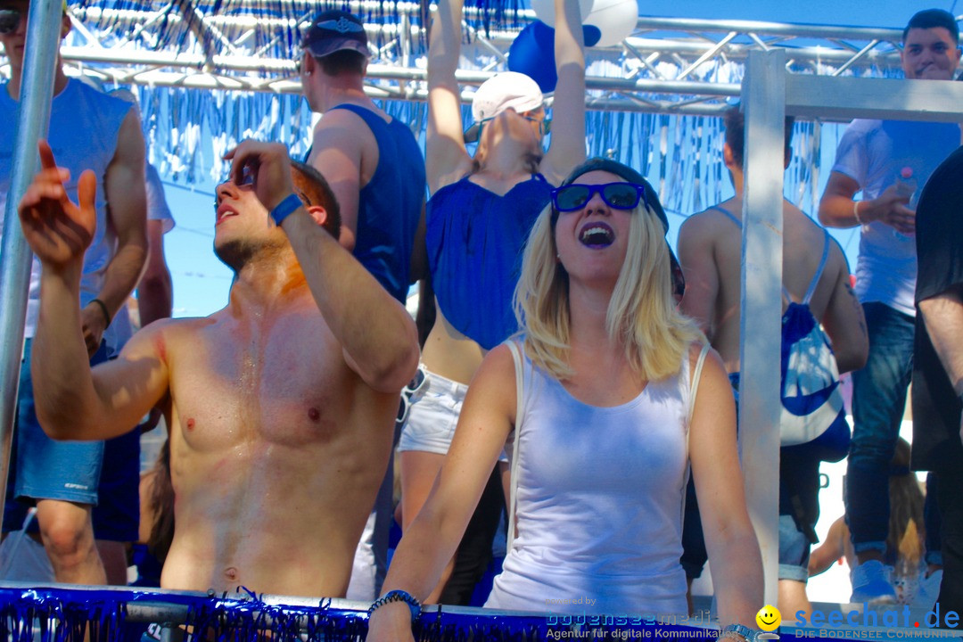
M 731 625 L 724 635 L 753 635 L 746 625 L 763 603 L 763 573 L 742 493 L 735 402 L 718 355 L 705 353 L 676 309 L 667 227 L 651 187 L 613 161 L 577 167 L 553 192 L 516 291 L 522 414 L 511 350 L 497 347 L 395 554 L 369 640 L 410 639 L 419 601 L 518 425 L 515 536 L 486 606 L 687 614 L 679 555 L 691 469 L 707 498 L 700 509 L 719 619 Z

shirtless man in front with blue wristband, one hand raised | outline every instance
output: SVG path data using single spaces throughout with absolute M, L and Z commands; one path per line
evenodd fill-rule
M 40 151 L 19 212 L 43 266 L 33 368 L 44 429 L 104 439 L 163 403 L 177 501 L 162 586 L 343 596 L 418 344 L 403 306 L 321 227 L 330 193 L 309 169 L 292 176 L 283 146 L 242 142 L 216 200 L 229 303 L 156 321 L 91 371 L 77 308 L 91 176 L 78 208 Z

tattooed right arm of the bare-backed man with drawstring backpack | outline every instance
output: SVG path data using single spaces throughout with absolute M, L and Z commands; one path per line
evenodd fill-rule
M 870 354 L 870 337 L 866 329 L 863 306 L 849 284 L 849 270 L 843 249 L 833 241 L 830 246 L 833 265 L 839 266 L 833 292 L 820 322 L 829 335 L 840 373 L 859 370 Z

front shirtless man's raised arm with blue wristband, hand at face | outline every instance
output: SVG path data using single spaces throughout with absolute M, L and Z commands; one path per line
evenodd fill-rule
M 269 212 L 295 193 L 283 145 L 244 141 L 225 158 L 232 159 L 238 181 L 243 167 L 253 168 L 255 192 Z M 374 390 L 400 392 L 414 376 L 419 355 L 415 324 L 403 305 L 303 207 L 284 218 L 281 229 L 351 370 Z

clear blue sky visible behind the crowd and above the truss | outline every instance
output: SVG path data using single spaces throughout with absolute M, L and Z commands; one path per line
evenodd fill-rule
M 676 0 L 672 3 L 639 0 L 638 7 L 640 15 L 663 17 L 899 28 L 913 13 L 923 9 L 936 7 L 963 13 L 963 0 Z M 208 315 L 226 304 L 231 281 L 230 270 L 221 265 L 212 251 L 213 186 L 191 190 L 166 183 L 166 195 L 177 223 L 165 240 L 174 285 L 174 316 Z M 846 250 L 850 269 L 854 268 L 856 234 L 844 231 L 836 236 Z

